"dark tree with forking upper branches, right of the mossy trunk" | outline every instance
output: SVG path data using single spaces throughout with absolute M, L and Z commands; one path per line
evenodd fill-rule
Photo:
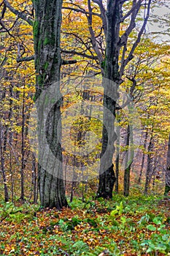
M 107 148 L 106 157 L 101 158 L 98 197 L 112 198 L 112 190 L 115 183 L 115 173 L 112 167 L 112 158 L 115 153 L 115 121 L 112 118 L 108 118 L 107 109 L 111 111 L 115 117 L 116 102 L 118 98 L 117 89 L 122 83 L 122 77 L 124 69 L 131 59 L 133 59 L 134 50 L 140 42 L 142 33 L 144 32 L 147 20 L 150 14 L 150 4 L 152 0 L 148 1 L 132 1 L 131 9 L 123 16 L 123 4 L 129 1 L 122 0 L 108 0 L 107 1 L 107 37 L 106 37 L 106 55 L 104 61 L 104 78 L 107 78 L 107 82 L 104 83 L 104 125 L 102 135 L 102 148 L 101 156 L 105 153 Z M 101 5 L 101 1 L 96 1 L 98 5 Z M 139 33 L 137 34 L 136 41 L 127 53 L 127 45 L 129 35 L 136 26 L 136 18 L 144 4 L 144 22 L 141 26 Z M 125 22 L 126 18 L 130 18 L 130 23 L 125 29 L 124 34 L 120 37 L 120 23 Z M 120 50 L 122 49 L 122 52 Z M 119 67 L 119 61 L 120 67 Z M 112 81 L 112 85 L 109 81 Z M 108 91 L 109 90 L 109 91 Z M 108 97 L 110 95 L 110 97 Z M 107 127 L 107 129 L 106 129 Z M 108 143 L 108 138 L 111 139 L 112 145 Z M 106 165 L 107 167 L 106 170 Z

